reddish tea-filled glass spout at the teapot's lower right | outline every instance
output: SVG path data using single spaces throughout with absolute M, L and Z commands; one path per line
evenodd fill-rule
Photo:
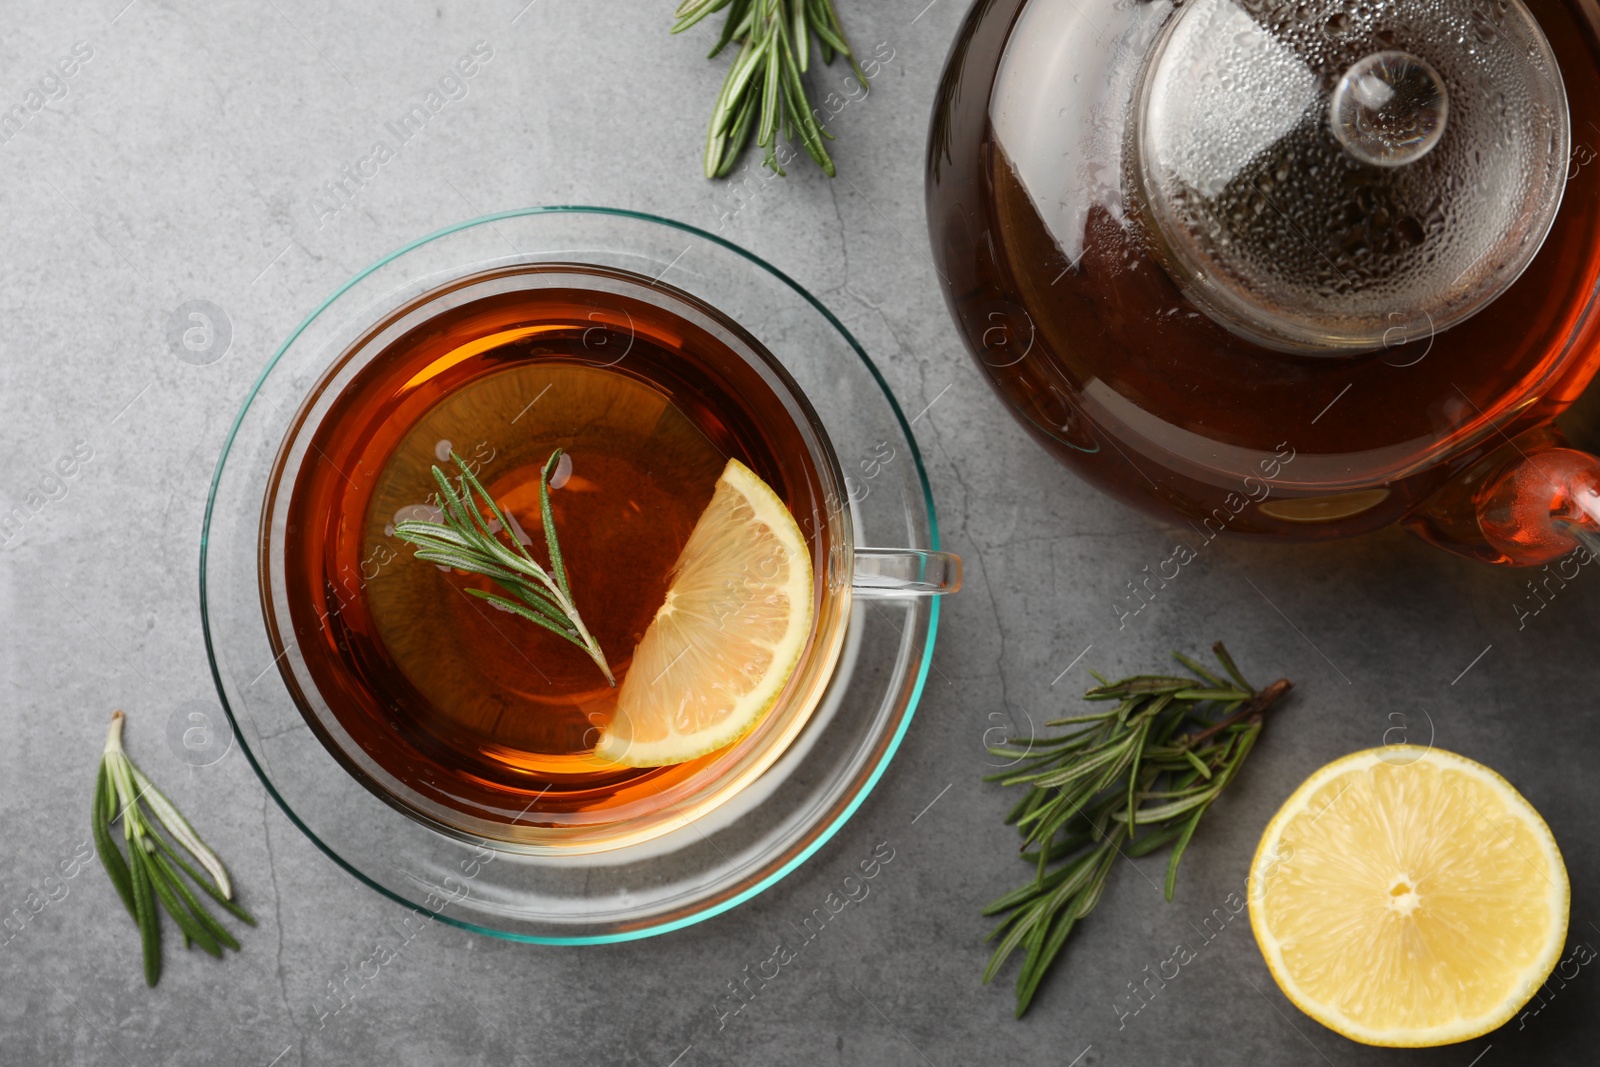
M 1579 547 L 1600 557 L 1600 458 L 1541 427 L 1453 478 L 1406 526 L 1490 563 L 1539 566 Z

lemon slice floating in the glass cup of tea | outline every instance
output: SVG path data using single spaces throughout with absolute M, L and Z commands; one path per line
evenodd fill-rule
M 794 515 L 730 459 L 634 649 L 595 755 L 683 763 L 749 733 L 778 702 L 811 635 L 811 552 Z

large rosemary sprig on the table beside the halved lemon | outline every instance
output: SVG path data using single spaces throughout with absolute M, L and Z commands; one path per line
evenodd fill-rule
M 984 915 L 1010 912 L 987 937 L 1000 944 L 984 984 L 1014 950 L 1024 952 L 1016 977 L 1019 1017 L 1067 934 L 1099 904 L 1118 856 L 1173 846 L 1165 889 L 1173 899 L 1178 861 L 1200 817 L 1245 765 L 1267 707 L 1293 685 L 1280 678 L 1256 689 L 1222 641 L 1213 651 L 1229 680 L 1181 653 L 1173 657 L 1194 677 L 1106 681 L 1096 673 L 1101 685 L 1083 699 L 1112 707 L 1046 723 L 1074 726 L 1062 736 L 989 749 L 1014 763 L 984 781 L 1027 789 L 1006 822 L 1022 833 L 1022 859 L 1034 864 L 1034 878 L 984 909 Z

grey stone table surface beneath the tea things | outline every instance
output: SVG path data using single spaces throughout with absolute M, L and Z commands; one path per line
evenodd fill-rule
M 1243 917 L 1197 929 L 1242 891 L 1288 792 L 1398 726 L 1528 795 L 1565 849 L 1571 937 L 1600 944 L 1600 577 L 1586 569 L 1523 614 L 1536 606 L 1525 574 L 1400 533 L 1218 541 L 1118 625 L 1126 582 L 1179 534 L 1024 437 L 962 349 L 926 256 L 926 117 L 963 3 L 840 6 L 859 46 L 893 54 L 870 96 L 832 120 L 840 178 L 750 171 L 736 197 L 699 176 L 722 66 L 702 59 L 704 34 L 667 35 L 670 3 L 5 5 L 0 112 L 22 118 L 0 136 L 0 512 L 22 518 L 0 549 L 0 1064 L 1594 1062 L 1600 976 L 1587 969 L 1498 1033 L 1384 1051 L 1296 1011 Z M 474 77 L 442 85 L 474 48 L 488 56 Z M 443 107 L 376 162 L 374 144 L 395 141 L 386 123 L 435 90 Z M 336 198 L 330 182 L 349 174 L 354 192 Z M 163 742 L 178 709 L 216 707 L 197 603 L 208 480 L 250 382 L 322 298 L 410 238 L 534 203 L 720 226 L 819 293 L 901 403 L 925 410 L 917 442 L 968 584 L 947 603 L 890 773 L 784 881 L 619 945 L 534 947 L 435 923 L 320 1017 L 330 982 L 397 941 L 405 912 L 318 853 L 237 747 L 192 768 Z M 173 312 L 197 299 L 230 330 L 208 365 L 168 344 Z M 70 477 L 53 474 L 74 454 Z M 978 909 L 1018 877 L 1000 827 L 1010 801 L 979 781 L 986 737 L 1070 705 L 1090 665 L 1141 669 L 1214 637 L 1248 672 L 1294 678 L 1293 702 L 1200 832 L 1174 902 L 1155 888 L 1160 859 L 1122 864 L 1014 1021 L 1010 989 L 978 981 Z M 80 862 L 115 705 L 261 918 L 222 965 L 170 949 L 155 990 L 112 886 Z M 722 1017 L 726 982 L 878 843 L 894 861 L 870 896 Z M 1179 941 L 1198 941 L 1195 960 L 1133 1000 L 1130 982 Z

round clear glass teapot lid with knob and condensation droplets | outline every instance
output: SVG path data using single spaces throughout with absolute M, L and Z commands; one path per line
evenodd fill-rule
M 1130 206 L 1178 285 L 1301 354 L 1482 310 L 1544 242 L 1570 152 L 1520 0 L 1186 0 L 1131 134 Z

